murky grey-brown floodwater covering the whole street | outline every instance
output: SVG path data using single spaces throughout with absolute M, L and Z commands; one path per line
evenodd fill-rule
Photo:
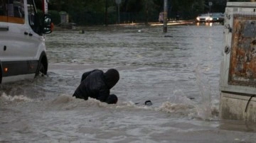
M 218 119 L 223 28 L 172 25 L 164 34 L 160 26 L 129 25 L 46 35 L 48 76 L 1 86 L 0 142 L 255 142 L 255 125 Z M 117 105 L 72 97 L 83 72 L 109 68 L 120 74 L 111 90 Z

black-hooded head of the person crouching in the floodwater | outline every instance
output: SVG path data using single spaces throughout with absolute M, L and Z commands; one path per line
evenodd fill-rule
M 119 81 L 119 72 L 117 69 L 108 69 L 104 73 L 104 76 L 106 84 L 109 88 L 112 88 L 115 84 L 117 84 L 117 81 Z

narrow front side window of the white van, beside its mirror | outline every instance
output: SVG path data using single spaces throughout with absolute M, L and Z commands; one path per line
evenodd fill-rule
M 42 35 L 41 21 L 32 0 L 28 0 L 28 23 L 35 33 Z

